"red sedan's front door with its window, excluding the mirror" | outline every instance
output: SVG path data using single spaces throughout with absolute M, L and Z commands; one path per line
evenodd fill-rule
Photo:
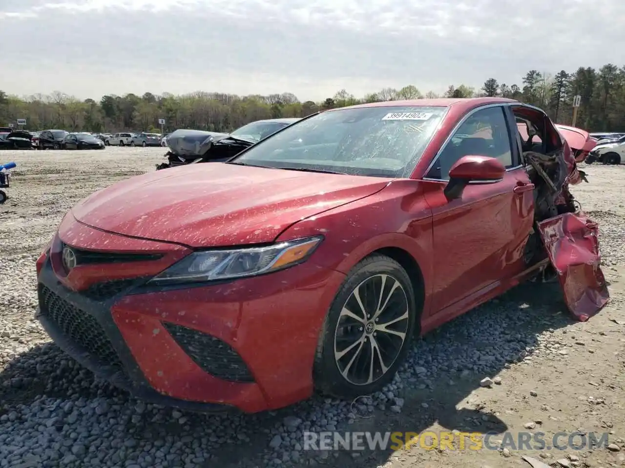
M 521 165 L 512 122 L 504 105 L 472 110 L 426 172 L 434 235 L 432 313 L 484 295 L 526 268 L 522 253 L 532 232 L 533 185 Z M 506 174 L 499 182 L 470 183 L 461 198 L 449 202 L 443 193 L 449 169 L 466 155 L 495 157 Z

